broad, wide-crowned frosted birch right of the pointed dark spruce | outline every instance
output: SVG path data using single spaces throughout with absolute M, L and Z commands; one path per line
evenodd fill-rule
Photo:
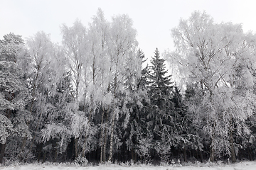
M 234 154 L 230 154 L 234 149 L 229 123 L 235 120 L 238 126 L 247 129 L 243 123 L 247 116 L 244 115 L 250 115 L 253 108 L 247 101 L 252 96 L 240 98 L 240 102 L 234 100 L 235 89 L 230 84 L 235 65 L 245 50 L 241 50 L 245 38 L 242 28 L 231 23 L 216 24 L 206 13 L 196 11 L 188 20 L 181 20 L 172 35 L 178 59 L 188 70 L 188 78 L 200 82 L 204 91 L 202 105 L 198 108 L 192 105 L 190 111 L 198 115 L 195 117 L 199 119 L 195 119 L 197 123 L 201 123 L 202 118 L 206 120 L 204 130 L 211 139 L 210 161 L 225 153 L 235 162 Z M 249 107 L 235 107 L 239 104 Z

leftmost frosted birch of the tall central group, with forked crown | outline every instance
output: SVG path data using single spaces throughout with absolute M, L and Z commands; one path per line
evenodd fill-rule
M 72 27 L 63 25 L 63 46 L 65 54 L 67 56 L 68 70 L 72 73 L 72 81 L 74 86 L 75 101 L 74 107 L 70 108 L 70 119 L 73 121 L 72 132 L 75 137 L 75 157 L 78 157 L 78 140 L 83 128 L 88 128 L 87 117 L 82 111 L 78 111 L 79 101 L 83 95 L 83 92 L 87 88 L 87 74 L 90 67 L 90 57 L 88 55 L 87 48 L 87 29 L 82 25 L 80 21 L 75 21 Z M 84 81 L 83 81 L 84 79 Z M 85 89 L 82 88 L 85 86 Z M 78 121 L 77 123 L 75 122 Z M 83 128 L 82 128 L 83 127 Z

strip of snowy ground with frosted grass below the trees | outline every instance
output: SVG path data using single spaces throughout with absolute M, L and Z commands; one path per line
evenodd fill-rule
M 213 165 L 207 164 L 201 166 L 119 166 L 119 165 L 100 165 L 100 166 L 68 166 L 68 165 L 46 165 L 46 164 L 28 164 L 28 165 L 12 165 L 1 166 L 4 170 L 255 170 L 256 162 L 241 162 L 231 165 Z

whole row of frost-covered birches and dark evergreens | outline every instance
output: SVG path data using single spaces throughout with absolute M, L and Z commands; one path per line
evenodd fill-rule
M 255 160 L 256 35 L 199 11 L 169 29 L 176 50 L 154 56 L 100 8 L 60 44 L 4 35 L 0 163 Z

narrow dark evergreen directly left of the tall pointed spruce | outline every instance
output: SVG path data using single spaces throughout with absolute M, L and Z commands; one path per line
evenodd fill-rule
M 148 95 L 146 92 L 146 84 L 148 84 L 148 80 L 146 74 L 148 72 L 148 67 L 142 67 L 142 64 L 146 61 L 144 60 L 144 57 L 144 52 L 139 49 L 137 51 L 137 60 L 140 64 L 140 72 L 142 73 L 138 74 L 137 77 L 134 77 L 134 82 L 129 84 L 128 89 L 130 90 L 130 99 L 126 104 L 129 111 L 129 119 L 127 119 L 129 122 L 122 133 L 122 152 L 129 152 L 134 161 L 137 161 L 137 156 L 140 154 L 139 140 L 144 139 L 145 135 L 143 134 L 146 133 L 146 105 L 148 105 Z M 121 121 L 120 123 L 127 120 Z M 124 162 L 127 160 L 129 159 L 123 159 Z

